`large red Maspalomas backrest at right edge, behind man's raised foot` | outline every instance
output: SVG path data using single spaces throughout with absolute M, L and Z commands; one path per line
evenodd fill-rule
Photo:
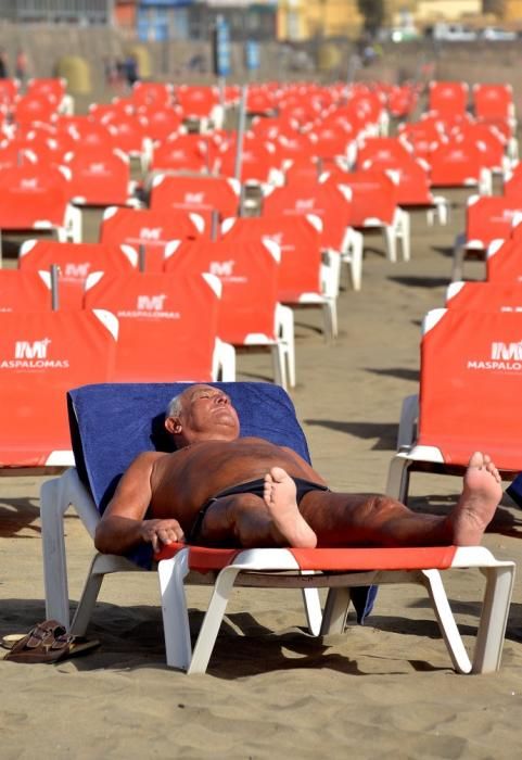
M 522 314 L 437 309 L 421 344 L 418 444 L 466 465 L 474 451 L 522 469 Z M 440 317 L 438 321 L 436 318 Z

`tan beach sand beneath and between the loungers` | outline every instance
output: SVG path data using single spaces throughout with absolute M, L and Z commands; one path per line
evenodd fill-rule
M 368 237 L 362 290 L 343 290 L 335 342 L 324 342 L 319 312 L 296 313 L 291 395 L 314 465 L 335 490 L 385 486 L 400 404 L 418 389 L 421 319 L 444 303 L 450 249 L 463 229 L 466 194 L 448 194 L 447 227 L 413 215 L 410 262 L 390 263 L 381 237 Z M 483 271 L 467 264 L 468 277 Z M 269 380 L 269 356 L 241 355 L 238 370 L 239 380 Z M 0 635 L 44 619 L 41 482 L 0 479 Z M 411 506 L 445 511 L 459 490 L 458 478 L 415 474 Z M 92 545 L 74 514 L 65 524 L 74 605 Z M 484 544 L 517 560 L 521 537 L 522 514 L 506 497 Z M 471 642 L 482 581 L 475 571 L 445 579 Z M 194 631 L 207 593 L 189 590 Z M 187 676 L 165 667 L 156 575 L 106 578 L 88 631 L 98 650 L 56 666 L 0 661 L 0 757 L 520 757 L 520 579 L 497 674 L 454 672 L 416 587 L 382 587 L 367 624 L 345 635 L 317 639 L 304 625 L 298 592 L 240 590 L 207 674 Z

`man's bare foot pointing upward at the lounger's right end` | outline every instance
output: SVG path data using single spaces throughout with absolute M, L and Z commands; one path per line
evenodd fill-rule
M 475 452 L 464 474 L 462 495 L 449 516 L 456 546 L 478 546 L 502 496 L 491 457 Z

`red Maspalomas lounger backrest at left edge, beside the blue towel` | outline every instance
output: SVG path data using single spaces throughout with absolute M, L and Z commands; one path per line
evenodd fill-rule
M 66 392 L 113 380 L 117 320 L 93 312 L 0 313 L 0 466 L 71 451 Z

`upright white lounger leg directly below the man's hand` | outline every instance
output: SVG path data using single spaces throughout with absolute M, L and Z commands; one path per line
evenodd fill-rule
M 189 613 L 183 581 L 189 571 L 188 550 L 157 566 L 162 595 L 163 631 L 167 666 L 187 671 L 192 658 Z

